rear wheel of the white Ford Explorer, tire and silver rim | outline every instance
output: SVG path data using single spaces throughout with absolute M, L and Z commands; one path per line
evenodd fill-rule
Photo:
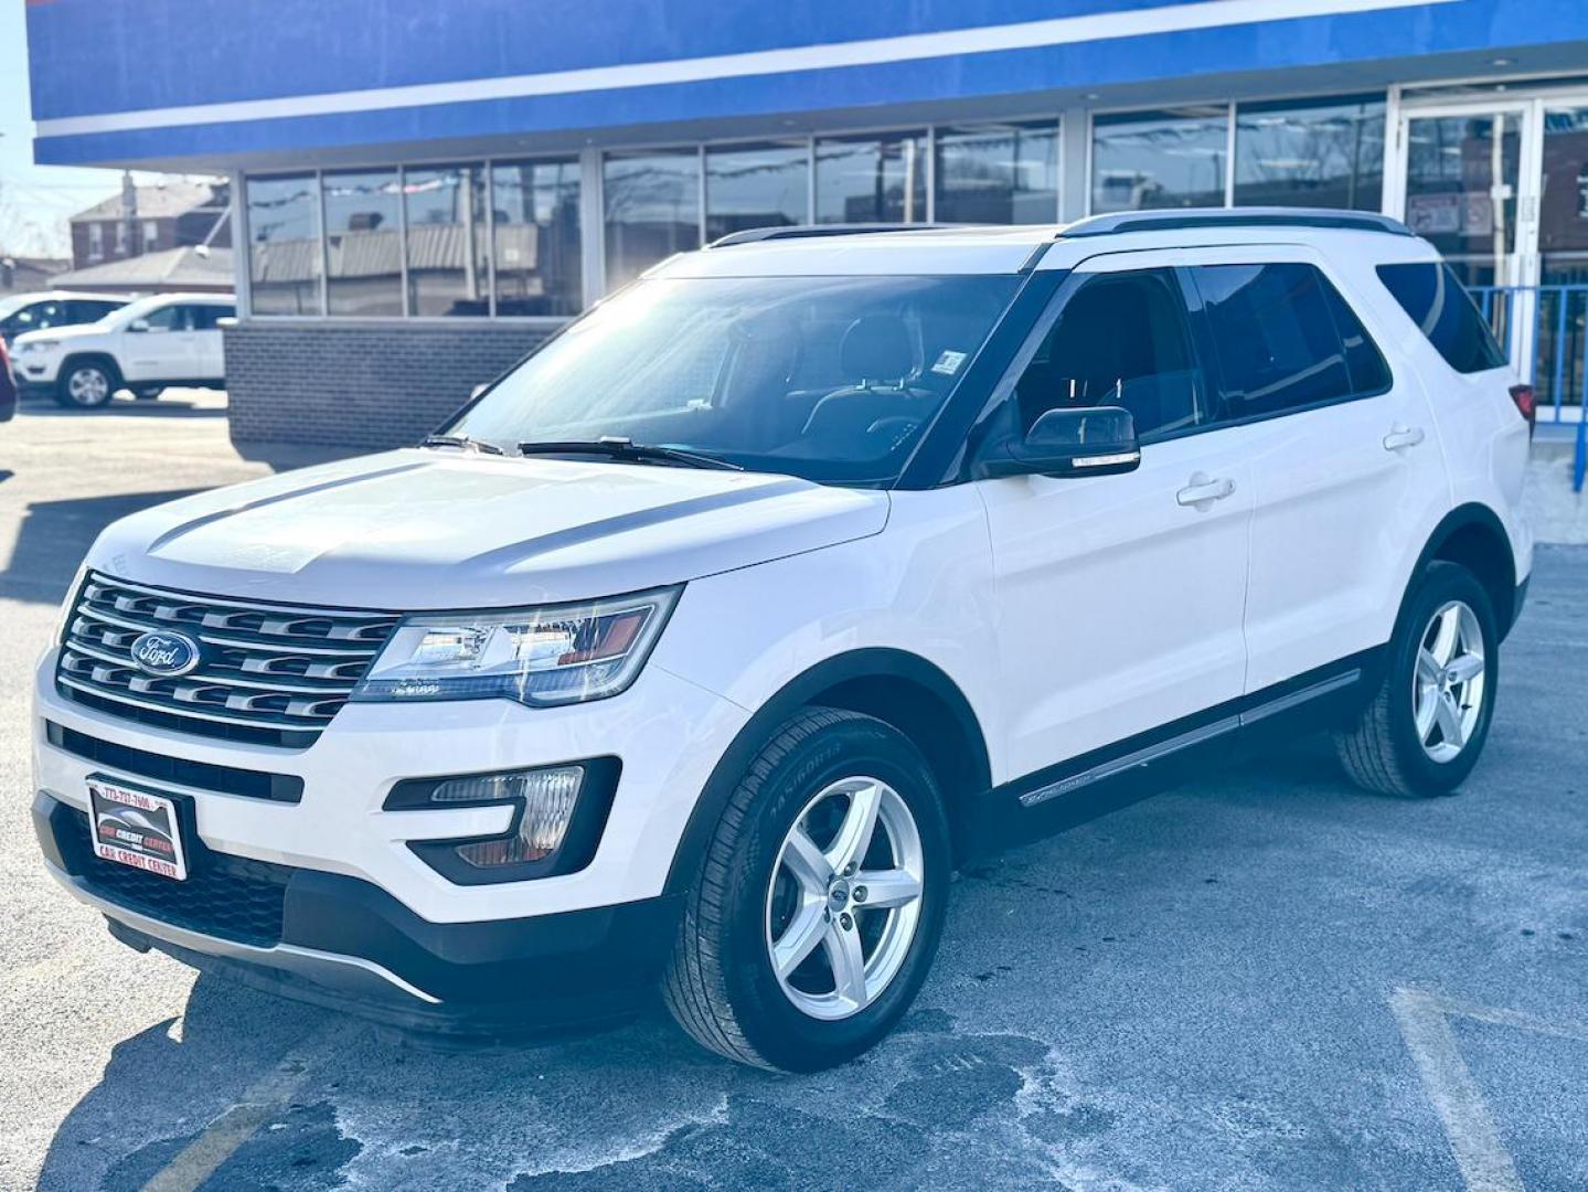
M 1407 595 L 1378 690 L 1356 724 L 1336 733 L 1345 773 L 1385 795 L 1450 794 L 1483 752 L 1497 684 L 1488 592 L 1464 567 L 1429 563 Z

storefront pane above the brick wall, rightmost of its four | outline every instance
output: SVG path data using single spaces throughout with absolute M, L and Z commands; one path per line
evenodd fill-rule
M 584 306 L 580 163 L 492 162 L 497 314 L 578 314 Z

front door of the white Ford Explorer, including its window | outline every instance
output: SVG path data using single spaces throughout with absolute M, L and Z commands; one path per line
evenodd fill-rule
M 1129 254 L 1066 279 L 1000 411 L 1124 405 L 1142 465 L 1118 476 L 977 484 L 996 575 L 1013 775 L 1158 729 L 1242 694 L 1251 471 L 1240 430 L 1212 430 L 1178 278 Z

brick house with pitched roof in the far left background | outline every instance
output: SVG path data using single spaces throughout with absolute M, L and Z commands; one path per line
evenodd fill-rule
M 227 183 L 178 179 L 124 187 L 122 194 L 71 216 L 71 267 L 83 270 L 195 244 L 229 248 L 229 202 Z M 218 222 L 221 227 L 216 227 Z

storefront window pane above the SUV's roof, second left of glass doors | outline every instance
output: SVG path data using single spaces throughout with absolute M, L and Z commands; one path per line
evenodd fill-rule
M 1093 214 L 1223 206 L 1229 110 L 1099 116 L 1093 122 Z

